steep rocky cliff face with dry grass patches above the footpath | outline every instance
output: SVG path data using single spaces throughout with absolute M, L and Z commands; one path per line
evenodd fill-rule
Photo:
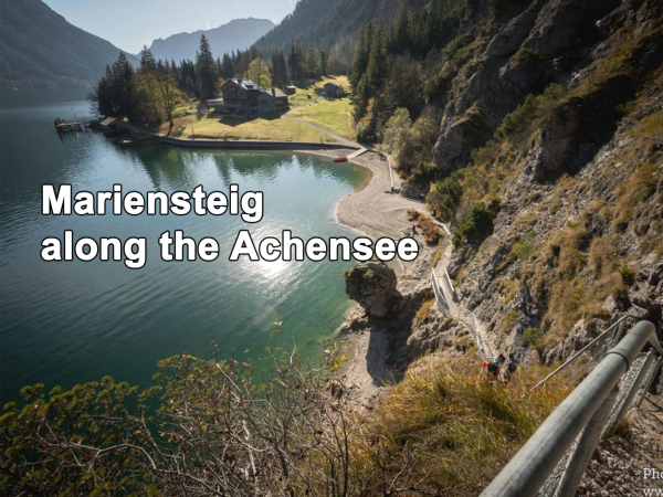
M 492 234 L 459 235 L 463 303 L 533 361 L 567 357 L 627 313 L 660 326 L 663 4 L 535 0 L 473 33 L 434 149 L 463 191 L 446 221 L 499 204 Z

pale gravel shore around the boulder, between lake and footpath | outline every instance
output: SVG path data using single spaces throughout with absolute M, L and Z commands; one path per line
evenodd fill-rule
M 341 157 L 347 151 L 315 154 Z M 337 330 L 347 348 L 347 362 L 338 376 L 345 388 L 354 390 L 357 401 L 370 408 L 381 389 L 399 381 L 414 359 L 440 347 L 463 353 L 472 347 L 472 340 L 463 327 L 445 319 L 434 305 L 429 278 L 441 248 L 436 243 L 427 243 L 421 230 L 413 231 L 413 222 L 408 219 L 409 210 L 429 215 L 427 205 L 390 193 L 389 166 L 377 152 L 367 152 L 352 162 L 369 169 L 372 178 L 364 190 L 338 202 L 337 222 L 372 240 L 412 236 L 420 245 L 415 261 L 361 263 L 346 275 L 346 293 L 358 304 L 348 310 Z M 396 172 L 393 177 L 400 187 Z M 420 313 L 422 306 L 424 311 Z

